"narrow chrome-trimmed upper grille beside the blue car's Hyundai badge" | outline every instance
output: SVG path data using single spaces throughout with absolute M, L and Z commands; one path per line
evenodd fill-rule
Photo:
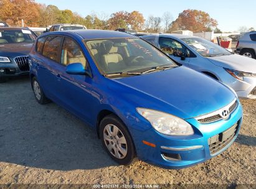
M 234 103 L 232 103 L 232 104 L 230 103 L 225 108 L 219 109 L 213 113 L 206 114 L 204 116 L 199 116 L 196 119 L 197 119 L 197 121 L 199 121 L 202 124 L 219 121 L 220 119 L 224 119 L 221 116 L 221 113 L 224 109 L 229 109 L 229 114 L 231 114 L 235 110 L 235 108 L 237 108 L 237 104 L 238 104 L 238 101 L 235 100 Z M 209 116 L 207 116 L 207 115 L 209 115 Z

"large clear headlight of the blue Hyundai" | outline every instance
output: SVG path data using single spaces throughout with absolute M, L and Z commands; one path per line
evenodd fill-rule
M 194 134 L 191 125 L 181 118 L 153 109 L 137 108 L 137 111 L 162 134 L 175 136 Z

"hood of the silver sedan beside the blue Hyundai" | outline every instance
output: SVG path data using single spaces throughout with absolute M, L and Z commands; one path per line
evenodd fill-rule
M 241 55 L 225 55 L 220 57 L 207 57 L 214 65 L 237 71 L 256 73 L 256 60 Z

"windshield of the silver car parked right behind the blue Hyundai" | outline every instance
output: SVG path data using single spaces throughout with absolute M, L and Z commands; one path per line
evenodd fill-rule
M 206 39 L 201 38 L 183 38 L 183 40 L 187 45 L 194 48 L 196 52 L 201 54 L 204 57 L 216 57 L 222 55 L 231 55 L 229 51 L 225 50 L 225 48 L 220 47 L 219 45 L 214 44 Z

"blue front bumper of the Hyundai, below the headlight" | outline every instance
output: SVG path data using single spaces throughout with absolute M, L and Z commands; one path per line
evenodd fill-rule
M 150 164 L 173 169 L 191 167 L 205 162 L 223 152 L 235 141 L 242 124 L 242 106 L 239 103 L 227 120 L 210 124 L 200 124 L 194 118 L 186 121 L 194 128 L 195 133 L 192 136 L 166 136 L 153 128 L 144 132 L 131 131 L 138 158 Z M 226 137 L 224 140 L 227 142 L 221 149 L 212 150 L 213 143 L 210 140 L 215 140 L 216 136 L 221 136 L 223 133 L 229 134 L 228 131 L 233 126 L 236 126 L 234 136 Z M 155 147 L 145 145 L 141 141 L 155 144 Z

